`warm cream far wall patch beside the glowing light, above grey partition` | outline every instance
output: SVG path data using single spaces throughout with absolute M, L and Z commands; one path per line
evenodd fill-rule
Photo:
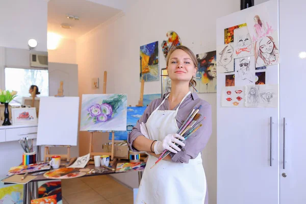
M 48 62 L 77 64 L 77 46 L 75 40 L 62 38 L 56 49 L 48 49 Z

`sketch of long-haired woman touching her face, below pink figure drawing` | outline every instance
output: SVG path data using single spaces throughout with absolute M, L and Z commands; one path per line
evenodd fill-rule
M 256 42 L 255 60 L 255 67 L 278 64 L 279 52 L 277 32 L 272 35 L 267 35 Z

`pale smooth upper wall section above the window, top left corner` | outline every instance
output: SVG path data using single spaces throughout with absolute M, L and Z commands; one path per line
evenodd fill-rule
M 0 0 L 0 25 L 0 46 L 27 49 L 34 38 L 36 50 L 47 51 L 46 1 Z

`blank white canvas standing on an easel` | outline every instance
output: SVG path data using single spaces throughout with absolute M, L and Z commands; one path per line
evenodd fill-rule
M 41 97 L 37 145 L 77 146 L 80 97 Z

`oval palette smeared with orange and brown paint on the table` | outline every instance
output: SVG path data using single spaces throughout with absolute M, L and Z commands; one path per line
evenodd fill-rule
M 74 168 L 60 168 L 43 174 L 47 179 L 73 179 L 84 175 L 86 175 L 86 172 Z

